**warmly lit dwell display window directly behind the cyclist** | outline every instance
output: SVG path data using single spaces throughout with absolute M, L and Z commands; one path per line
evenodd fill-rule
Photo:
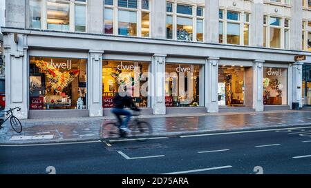
M 125 86 L 137 107 L 148 107 L 148 72 L 147 62 L 103 61 L 103 107 L 113 107 L 113 96 Z

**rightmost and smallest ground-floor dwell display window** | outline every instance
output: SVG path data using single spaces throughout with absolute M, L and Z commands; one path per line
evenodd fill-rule
M 286 68 L 264 67 L 263 104 L 288 104 L 288 70 Z

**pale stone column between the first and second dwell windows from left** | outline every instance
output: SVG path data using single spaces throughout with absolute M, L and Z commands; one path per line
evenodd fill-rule
M 102 54 L 90 50 L 88 57 L 88 110 L 90 116 L 102 116 Z

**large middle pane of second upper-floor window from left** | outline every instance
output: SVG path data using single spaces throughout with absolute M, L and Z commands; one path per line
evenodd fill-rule
M 126 36 L 137 35 L 137 13 L 119 10 L 119 34 Z

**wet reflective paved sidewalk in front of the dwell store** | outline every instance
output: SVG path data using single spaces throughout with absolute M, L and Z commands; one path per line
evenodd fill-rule
M 311 125 L 311 111 L 238 112 L 218 114 L 173 114 L 141 116 L 151 123 L 153 136 L 178 136 L 229 130 L 262 129 Z M 59 143 L 102 138 L 102 122 L 113 121 L 111 117 L 100 118 L 51 118 L 21 120 L 23 132 L 17 134 L 9 123 L 0 129 L 0 144 Z

